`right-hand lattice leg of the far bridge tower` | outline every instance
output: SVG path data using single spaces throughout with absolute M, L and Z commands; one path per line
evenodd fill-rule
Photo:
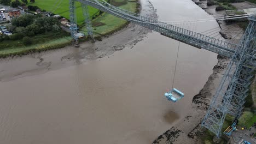
M 81 3 L 81 5 L 82 5 L 82 10 L 83 10 L 83 15 L 84 15 L 84 19 L 85 19 L 87 33 L 90 36 L 91 40 L 95 41 L 94 34 L 92 33 L 92 26 L 91 26 L 90 14 L 88 11 L 88 5 L 83 4 L 83 3 Z

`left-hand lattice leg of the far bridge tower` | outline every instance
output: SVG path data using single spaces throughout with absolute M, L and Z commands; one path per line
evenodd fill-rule
M 69 0 L 69 16 L 71 37 L 77 41 L 77 14 L 75 14 L 75 0 Z

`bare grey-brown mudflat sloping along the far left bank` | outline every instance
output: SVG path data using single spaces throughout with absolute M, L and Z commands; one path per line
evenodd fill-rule
M 144 5 L 143 10 L 140 12 L 142 15 L 153 17 L 157 19 L 156 10 L 153 5 L 147 1 Z M 151 32 L 149 29 L 129 23 L 120 31 L 115 32 L 111 35 L 105 35 L 101 38 L 101 41 L 96 41 L 92 43 L 91 41 L 86 41 L 86 43 L 80 43 L 79 48 L 74 48 L 71 45 L 71 37 L 66 37 L 65 39 L 60 39 L 61 43 L 68 41 L 69 44 L 63 45 L 61 49 L 48 49 L 45 51 L 34 51 L 31 52 L 27 50 L 25 55 L 16 55 L 0 59 L 0 62 L 14 62 L 5 65 L 0 71 L 0 81 L 15 80 L 19 77 L 35 75 L 40 71 L 56 70 L 60 68 L 70 67 L 71 65 L 80 64 L 83 62 L 89 62 L 94 59 L 103 58 L 112 55 L 116 51 L 123 49 L 132 49 L 139 41 L 142 41 L 146 35 Z M 54 43 L 49 41 L 48 44 Z M 45 44 L 47 45 L 47 44 Z M 44 46 L 45 45 L 38 45 Z M 33 48 L 33 47 L 32 47 Z M 42 50 L 43 47 L 39 47 Z M 46 56 L 50 54 L 50 56 Z M 51 57 L 51 55 L 57 55 Z M 16 62 L 30 63 L 27 58 L 32 58 L 32 63 L 27 65 L 27 67 L 21 67 L 19 69 L 13 69 L 11 65 L 19 65 Z M 33 63 L 36 61 L 37 63 Z

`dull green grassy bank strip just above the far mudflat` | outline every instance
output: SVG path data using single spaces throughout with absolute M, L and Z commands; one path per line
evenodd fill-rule
M 110 1 L 110 4 L 132 11 L 133 13 L 139 13 L 140 8 L 139 8 L 139 2 L 137 0 L 127 1 L 125 3 L 122 3 L 122 2 L 123 0 L 112 0 Z M 93 32 L 94 32 L 95 38 L 98 40 L 101 40 L 102 37 L 108 37 L 108 35 L 113 34 L 117 31 L 120 31 L 120 29 L 125 28 L 128 24 L 129 24 L 128 21 L 119 19 L 118 17 L 115 17 L 107 13 L 103 13 L 98 17 L 96 17 L 96 19 L 92 20 Z M 87 35 L 85 27 L 81 28 L 81 32 Z M 80 41 L 82 43 L 82 41 L 88 41 L 88 39 L 85 38 Z M 20 43 L 20 41 L 14 41 L 13 43 Z M 30 46 L 8 47 L 0 50 L 0 58 L 22 56 L 22 55 L 28 55 L 34 52 L 60 49 L 62 47 L 65 47 L 71 44 L 72 44 L 72 38 L 68 36 L 68 37 L 53 39 L 45 43 L 39 43 L 35 45 L 30 45 Z

